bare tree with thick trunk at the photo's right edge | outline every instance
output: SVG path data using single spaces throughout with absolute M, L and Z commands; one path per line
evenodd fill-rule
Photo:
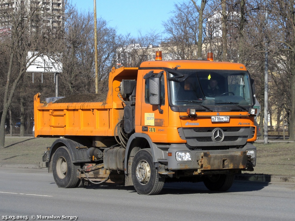
M 290 101 L 288 133 L 291 140 L 295 139 L 295 4 L 290 0 L 273 0 L 270 1 L 271 14 L 269 17 L 270 25 L 276 34 L 269 35 L 269 39 L 274 43 L 276 56 L 281 59 L 279 74 L 286 73 L 289 82 L 284 82 L 290 88 Z M 284 87 L 283 89 L 287 89 Z

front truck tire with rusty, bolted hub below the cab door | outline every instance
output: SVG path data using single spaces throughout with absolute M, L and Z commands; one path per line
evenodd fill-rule
M 131 168 L 132 181 L 136 191 L 142 195 L 156 195 L 161 192 L 165 177 L 160 177 L 155 168 L 150 149 L 141 149 L 134 156 Z

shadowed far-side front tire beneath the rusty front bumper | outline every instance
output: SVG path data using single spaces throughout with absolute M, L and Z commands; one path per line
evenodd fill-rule
M 234 182 L 234 174 L 217 174 L 212 177 L 204 178 L 204 184 L 207 189 L 212 191 L 227 191 L 232 187 Z

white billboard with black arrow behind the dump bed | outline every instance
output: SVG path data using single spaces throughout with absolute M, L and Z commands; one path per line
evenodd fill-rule
M 61 55 L 39 55 L 38 52 L 28 52 L 27 72 L 63 72 L 63 64 L 60 62 Z M 34 60 L 35 59 L 35 60 Z

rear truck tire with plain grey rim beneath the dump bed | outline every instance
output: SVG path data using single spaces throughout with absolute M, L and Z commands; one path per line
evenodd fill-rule
M 77 170 L 79 166 L 74 165 L 71 159 L 70 151 L 65 146 L 59 147 L 53 156 L 53 178 L 60 188 L 76 187 L 79 178 Z

